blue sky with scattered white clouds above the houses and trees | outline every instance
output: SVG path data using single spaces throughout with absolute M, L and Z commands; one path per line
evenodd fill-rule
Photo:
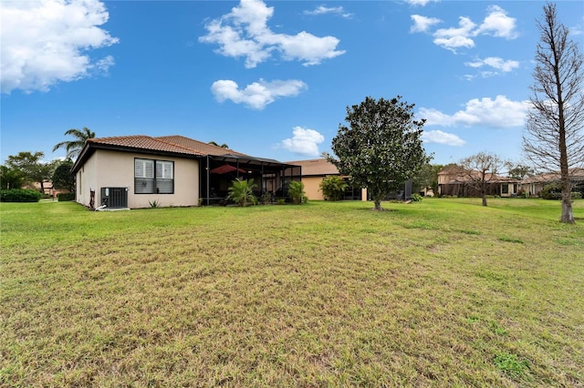
M 558 15 L 584 46 L 584 5 Z M 346 107 L 402 96 L 433 163 L 520 161 L 539 1 L 0 2 L 2 162 L 69 128 L 183 135 L 280 161 L 330 151 Z

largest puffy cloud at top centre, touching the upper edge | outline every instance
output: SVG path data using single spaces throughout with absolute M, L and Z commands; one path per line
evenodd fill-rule
M 298 60 L 304 66 L 319 65 L 323 59 L 340 56 L 339 39 L 334 36 L 314 36 L 306 31 L 297 35 L 276 34 L 267 26 L 274 14 L 260 0 L 241 0 L 231 13 L 209 22 L 207 35 L 199 42 L 217 44 L 223 56 L 245 57 L 245 67 L 252 68 L 266 61 L 273 53 L 284 60 Z

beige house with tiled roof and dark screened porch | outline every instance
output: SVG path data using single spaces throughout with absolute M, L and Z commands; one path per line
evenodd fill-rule
M 90 138 L 73 165 L 78 203 L 98 208 L 197 206 L 219 202 L 235 179 L 255 195 L 287 196 L 301 167 L 256 158 L 183 136 Z

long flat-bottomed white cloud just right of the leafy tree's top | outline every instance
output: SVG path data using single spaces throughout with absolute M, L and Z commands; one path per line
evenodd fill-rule
M 505 96 L 483 97 L 471 99 L 464 110 L 454 115 L 425 107 L 420 108 L 418 115 L 426 118 L 428 126 L 512 128 L 523 127 L 527 106 L 527 101 L 511 101 Z

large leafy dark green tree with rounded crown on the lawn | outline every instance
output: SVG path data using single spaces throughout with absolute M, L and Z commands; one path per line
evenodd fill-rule
M 367 188 L 376 210 L 391 190 L 412 179 L 428 163 L 422 147 L 425 119 L 416 120 L 413 104 L 401 96 L 376 100 L 366 97 L 360 105 L 347 107 L 339 133 L 332 139 L 336 158 L 327 155 L 340 174 L 348 175 L 360 188 Z

